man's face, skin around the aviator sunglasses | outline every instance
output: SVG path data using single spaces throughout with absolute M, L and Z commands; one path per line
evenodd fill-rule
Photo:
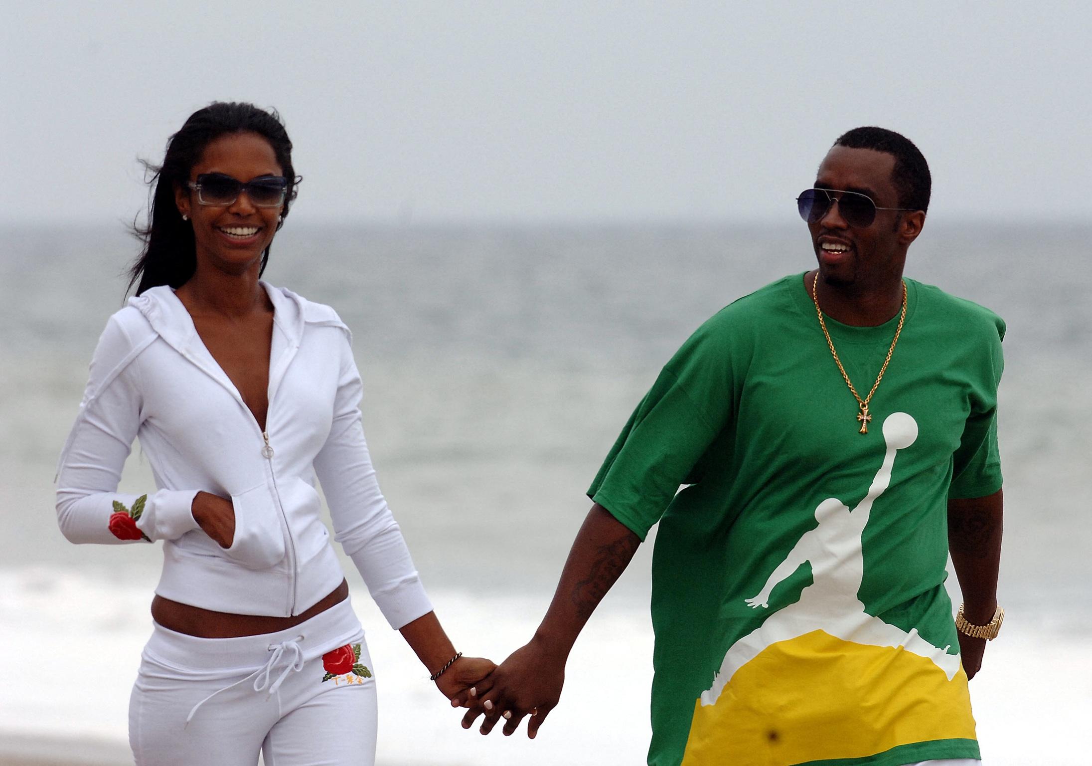
M 891 182 L 893 168 L 894 156 L 886 152 L 833 146 L 819 166 L 815 186 L 865 195 L 877 208 L 900 208 L 899 195 Z M 823 217 L 808 224 L 823 282 L 866 287 L 898 279 L 906 246 L 919 229 L 919 225 L 913 226 L 907 239 L 905 215 L 878 210 L 871 224 L 854 227 L 842 217 L 839 205 L 832 204 Z

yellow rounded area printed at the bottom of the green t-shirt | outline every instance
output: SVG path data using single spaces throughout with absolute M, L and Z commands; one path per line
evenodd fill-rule
M 764 649 L 715 705 L 695 702 L 682 766 L 790 766 L 954 738 L 974 739 L 962 669 L 949 681 L 904 649 L 814 631 Z

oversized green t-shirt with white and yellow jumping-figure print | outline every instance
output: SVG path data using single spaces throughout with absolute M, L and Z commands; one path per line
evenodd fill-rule
M 947 500 L 1001 486 L 1005 323 L 906 287 L 867 434 L 795 274 L 699 328 L 600 469 L 596 503 L 642 540 L 660 522 L 649 764 L 980 757 Z M 862 396 L 897 325 L 827 319 Z

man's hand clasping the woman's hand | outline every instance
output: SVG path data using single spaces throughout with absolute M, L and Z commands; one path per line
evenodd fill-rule
M 561 698 L 565 684 L 567 653 L 550 651 L 545 641 L 533 638 L 517 649 L 492 675 L 478 684 L 470 697 L 470 710 L 463 716 L 463 728 L 470 729 L 478 716 L 484 715 L 479 731 L 488 734 L 500 718 L 505 718 L 503 732 L 511 735 L 524 716 L 527 736 L 535 738 L 538 727 L 546 720 Z M 455 704 L 452 699 L 452 705 Z

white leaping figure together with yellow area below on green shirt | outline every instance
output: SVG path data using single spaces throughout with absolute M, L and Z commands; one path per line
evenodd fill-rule
M 787 766 L 974 738 L 959 657 L 916 628 L 906 633 L 868 614 L 857 599 L 860 540 L 873 504 L 890 486 L 897 452 L 916 439 L 913 417 L 889 415 L 883 462 L 865 498 L 853 510 L 836 498 L 820 503 L 819 526 L 747 599 L 752 609 L 768 609 L 773 588 L 811 564 L 812 584 L 799 600 L 728 648 L 695 703 L 682 766 Z

